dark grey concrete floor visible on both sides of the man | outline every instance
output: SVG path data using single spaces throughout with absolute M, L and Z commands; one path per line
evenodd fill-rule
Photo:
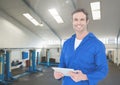
M 43 69 L 43 72 L 21 77 L 10 85 L 61 85 L 61 81 L 54 79 L 50 67 Z M 115 64 L 109 63 L 109 74 L 98 85 L 120 85 L 120 69 Z

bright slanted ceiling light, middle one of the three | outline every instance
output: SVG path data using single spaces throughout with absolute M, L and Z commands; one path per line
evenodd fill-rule
M 54 17 L 54 19 L 57 21 L 57 23 L 64 23 L 63 19 L 60 17 L 59 13 L 55 8 L 49 9 L 48 10 L 50 14 Z

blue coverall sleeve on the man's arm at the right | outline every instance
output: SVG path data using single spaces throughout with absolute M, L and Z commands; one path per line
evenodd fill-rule
M 96 85 L 100 80 L 104 79 L 108 73 L 108 63 L 104 45 L 96 48 L 95 64 L 96 69 L 94 72 L 87 74 L 89 85 Z

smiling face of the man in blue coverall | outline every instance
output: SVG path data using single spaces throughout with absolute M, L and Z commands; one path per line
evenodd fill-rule
M 73 29 L 76 32 L 82 32 L 87 30 L 88 21 L 86 15 L 83 12 L 73 14 Z

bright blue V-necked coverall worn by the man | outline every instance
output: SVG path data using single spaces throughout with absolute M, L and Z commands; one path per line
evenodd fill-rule
M 88 80 L 75 82 L 69 76 L 62 78 L 62 85 L 97 85 L 108 73 L 104 44 L 93 33 L 88 33 L 74 50 L 76 34 L 65 41 L 59 67 L 81 70 Z

